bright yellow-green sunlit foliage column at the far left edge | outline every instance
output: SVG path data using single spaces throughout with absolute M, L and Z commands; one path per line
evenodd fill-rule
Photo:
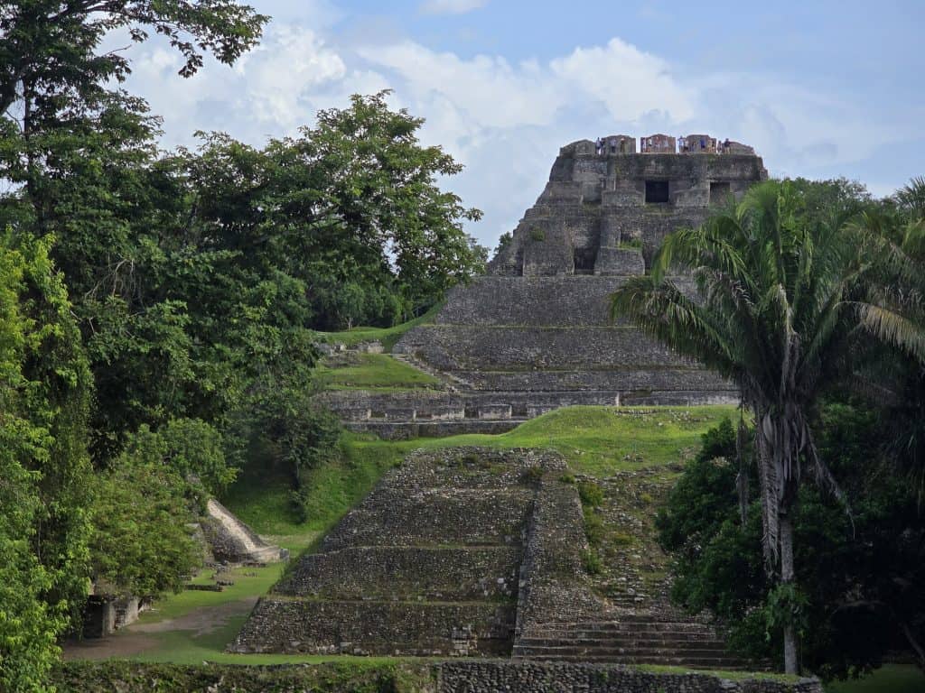
M 43 690 L 86 591 L 90 377 L 48 240 L 0 234 L 0 687 Z

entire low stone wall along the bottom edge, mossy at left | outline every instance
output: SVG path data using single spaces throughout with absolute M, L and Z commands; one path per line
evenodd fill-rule
M 50 676 L 60 693 L 822 693 L 817 679 L 784 683 L 710 674 L 660 674 L 607 664 L 501 660 L 241 666 L 138 662 L 64 663 Z

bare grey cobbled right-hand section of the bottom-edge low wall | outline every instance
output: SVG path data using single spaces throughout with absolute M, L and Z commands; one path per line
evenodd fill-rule
M 606 664 L 446 662 L 439 693 L 822 693 L 817 679 L 730 681 L 710 674 L 657 674 Z

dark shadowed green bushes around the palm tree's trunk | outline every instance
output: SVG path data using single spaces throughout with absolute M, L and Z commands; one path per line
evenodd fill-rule
M 801 634 L 808 668 L 826 677 L 858 675 L 882 663 L 897 642 L 925 633 L 925 518 L 916 490 L 883 466 L 889 440 L 875 410 L 830 402 L 816 424 L 820 455 L 845 490 L 845 507 L 804 486 L 795 513 L 796 581 L 762 570 L 759 504 L 742 524 L 736 498 L 732 426 L 704 436 L 657 521 L 672 553 L 672 597 L 691 613 L 708 610 L 731 629 L 738 651 L 767 657 L 784 624 Z M 749 472 L 754 494 L 758 480 Z

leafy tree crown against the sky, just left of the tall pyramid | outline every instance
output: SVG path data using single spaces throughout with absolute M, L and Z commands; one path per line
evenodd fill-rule
M 484 267 L 462 231 L 481 213 L 436 185 L 461 166 L 422 147 L 423 121 L 390 110 L 387 95 L 353 96 L 263 150 L 213 134 L 179 157 L 210 249 L 304 283 L 316 329 L 396 324 Z

